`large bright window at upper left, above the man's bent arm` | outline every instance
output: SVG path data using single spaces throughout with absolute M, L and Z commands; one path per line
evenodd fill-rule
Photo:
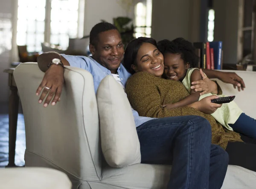
M 18 0 L 17 45 L 26 45 L 28 52 L 40 52 L 43 42 L 67 49 L 82 23 L 79 1 L 83 0 Z

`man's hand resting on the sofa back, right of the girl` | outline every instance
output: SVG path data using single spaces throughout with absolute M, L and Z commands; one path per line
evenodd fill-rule
M 238 91 L 241 91 L 241 89 L 244 90 L 245 88 L 243 79 L 234 72 L 221 72 L 218 79 L 224 83 L 232 84 L 234 89 L 236 89 L 237 86 Z

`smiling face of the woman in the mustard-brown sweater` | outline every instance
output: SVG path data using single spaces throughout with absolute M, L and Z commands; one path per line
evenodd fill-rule
M 143 43 L 136 57 L 136 65 L 131 65 L 135 72 L 148 72 L 156 77 L 163 74 L 163 54 L 151 43 Z

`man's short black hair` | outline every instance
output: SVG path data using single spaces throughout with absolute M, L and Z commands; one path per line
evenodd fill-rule
M 93 26 L 93 28 L 90 31 L 90 44 L 92 44 L 93 46 L 96 46 L 99 40 L 99 33 L 112 30 L 112 29 L 117 30 L 116 26 L 114 26 L 111 23 L 108 23 L 108 22 L 97 23 L 95 26 Z

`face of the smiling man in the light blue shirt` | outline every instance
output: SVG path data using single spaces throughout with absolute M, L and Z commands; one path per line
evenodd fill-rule
M 99 33 L 96 46 L 90 44 L 93 59 L 116 73 L 124 56 L 124 47 L 119 31 L 112 29 Z

